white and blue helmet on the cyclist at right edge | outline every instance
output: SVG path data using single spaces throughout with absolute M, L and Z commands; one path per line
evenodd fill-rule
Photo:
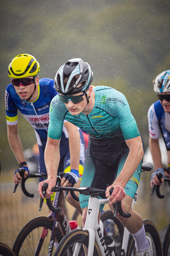
M 153 86 L 156 93 L 170 92 L 170 70 L 165 70 L 156 76 Z

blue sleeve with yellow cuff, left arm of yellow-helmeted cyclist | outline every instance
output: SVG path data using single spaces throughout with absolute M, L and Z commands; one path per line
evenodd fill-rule
M 11 97 L 10 85 L 8 85 L 5 92 L 5 108 L 6 108 L 7 124 L 17 125 L 18 123 L 17 106 L 14 104 L 14 101 Z

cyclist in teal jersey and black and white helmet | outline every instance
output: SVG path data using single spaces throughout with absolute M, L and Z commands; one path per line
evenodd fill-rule
M 141 216 L 132 209 L 132 200 L 139 184 L 142 158 L 144 154 L 142 139 L 125 96 L 106 86 L 92 87 L 93 72 L 87 62 L 80 58 L 67 61 L 59 68 L 54 79 L 58 95 L 50 106 L 45 163 L 49 172 L 47 194 L 55 185 L 56 166 L 59 154 L 59 141 L 64 120 L 77 125 L 89 134 L 88 149 L 81 186 L 106 189 L 114 187 L 109 199 L 110 206 L 122 200 L 122 208 L 131 217 L 117 218 L 127 227 L 135 239 L 138 256 L 152 254 L 152 242 L 146 237 Z M 42 198 L 42 182 L 39 183 Z M 83 227 L 88 210 L 89 196 L 80 195 Z M 102 211 L 100 207 L 100 213 Z

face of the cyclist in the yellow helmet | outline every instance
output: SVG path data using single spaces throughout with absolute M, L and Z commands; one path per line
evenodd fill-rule
M 33 78 L 33 76 L 28 76 L 27 78 Z M 37 78 L 35 78 L 35 83 L 36 83 L 36 86 L 39 83 L 39 77 L 38 76 L 37 76 Z M 16 93 L 18 94 L 20 99 L 25 99 L 26 100 L 32 95 L 32 93 L 34 92 L 35 83 L 34 84 L 29 84 L 27 86 L 25 86 L 23 84 L 20 85 L 20 86 L 15 86 L 14 85 L 14 89 L 16 90 Z M 35 97 L 37 98 L 37 93 L 34 94 L 34 98 Z M 33 100 L 33 99 L 31 98 L 31 100 Z

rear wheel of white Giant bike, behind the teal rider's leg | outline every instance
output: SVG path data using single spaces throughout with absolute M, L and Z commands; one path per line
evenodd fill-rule
M 144 220 L 144 229 L 146 232 L 146 236 L 149 236 L 152 240 L 153 245 L 153 256 L 162 256 L 162 245 L 161 245 L 161 238 L 159 236 L 159 232 L 153 224 L 152 221 Z M 135 241 L 133 239 L 133 236 L 130 235 L 128 246 L 127 246 L 127 256 L 134 256 L 136 255 L 136 249 L 135 249 Z

